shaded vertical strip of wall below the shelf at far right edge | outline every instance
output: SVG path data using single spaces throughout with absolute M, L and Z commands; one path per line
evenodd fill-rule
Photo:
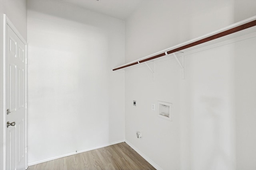
M 236 169 L 256 169 L 256 38 L 235 44 Z

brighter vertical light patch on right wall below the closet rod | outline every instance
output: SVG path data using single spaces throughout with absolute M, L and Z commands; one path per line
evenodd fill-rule
M 183 107 L 190 114 L 186 128 L 192 170 L 235 167 L 233 54 L 229 45 L 186 56 Z

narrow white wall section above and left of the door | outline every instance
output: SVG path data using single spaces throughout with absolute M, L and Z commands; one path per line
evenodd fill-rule
M 14 26 L 21 33 L 22 37 L 27 39 L 27 2 L 26 0 L 0 0 L 0 169 L 3 168 L 3 148 L 5 141 L 3 139 L 3 127 L 6 126 L 3 120 L 3 14 L 12 21 Z M 3 113 L 4 112 L 4 113 Z M 4 169 L 4 168 L 3 168 Z

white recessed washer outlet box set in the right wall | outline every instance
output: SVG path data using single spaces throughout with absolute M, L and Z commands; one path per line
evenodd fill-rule
M 167 102 L 157 102 L 158 106 L 158 117 L 166 119 L 168 121 L 172 121 L 172 103 Z

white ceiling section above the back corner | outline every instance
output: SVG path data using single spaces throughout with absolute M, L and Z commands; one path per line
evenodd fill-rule
M 125 20 L 143 0 L 59 0 L 107 16 Z

